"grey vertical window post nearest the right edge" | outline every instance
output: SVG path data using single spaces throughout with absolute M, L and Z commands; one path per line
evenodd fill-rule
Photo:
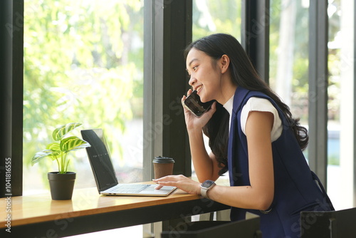
M 311 170 L 327 182 L 328 166 L 328 1 L 309 8 L 309 145 Z

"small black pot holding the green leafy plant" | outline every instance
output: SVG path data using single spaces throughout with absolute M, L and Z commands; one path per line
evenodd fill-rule
M 59 174 L 48 172 L 49 187 L 52 200 L 71 200 L 73 195 L 75 172 Z

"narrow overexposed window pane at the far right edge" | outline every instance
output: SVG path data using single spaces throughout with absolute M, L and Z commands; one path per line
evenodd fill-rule
M 355 207 L 355 31 L 352 1 L 329 1 L 328 192 L 335 209 Z M 352 192 L 353 191 L 353 192 Z

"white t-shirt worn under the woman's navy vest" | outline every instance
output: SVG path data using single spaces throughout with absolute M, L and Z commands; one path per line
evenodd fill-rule
M 229 126 L 231 125 L 231 113 L 232 113 L 233 104 L 234 104 L 234 95 L 224 104 L 224 108 L 230 114 Z M 245 133 L 246 121 L 248 118 L 248 113 L 250 113 L 251 111 L 272 113 L 274 119 L 273 119 L 273 128 L 271 131 L 271 141 L 273 142 L 281 136 L 283 130 L 282 121 L 281 118 L 279 118 L 277 109 L 272 105 L 272 103 L 269 100 L 265 98 L 256 98 L 256 97 L 249 98 L 241 111 L 241 118 L 240 118 L 241 130 L 245 135 L 246 135 Z

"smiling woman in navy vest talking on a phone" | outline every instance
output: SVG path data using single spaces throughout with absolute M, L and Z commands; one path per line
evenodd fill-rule
M 184 109 L 192 161 L 203 184 L 182 175 L 155 182 L 230 205 L 232 221 L 244 219 L 247 211 L 258 214 L 263 237 L 300 237 L 300 211 L 333 210 L 303 156 L 307 130 L 258 77 L 233 36 L 201 38 L 185 56 L 189 85 L 202 102 L 217 101 L 200 118 Z M 226 171 L 231 186 L 214 185 Z

